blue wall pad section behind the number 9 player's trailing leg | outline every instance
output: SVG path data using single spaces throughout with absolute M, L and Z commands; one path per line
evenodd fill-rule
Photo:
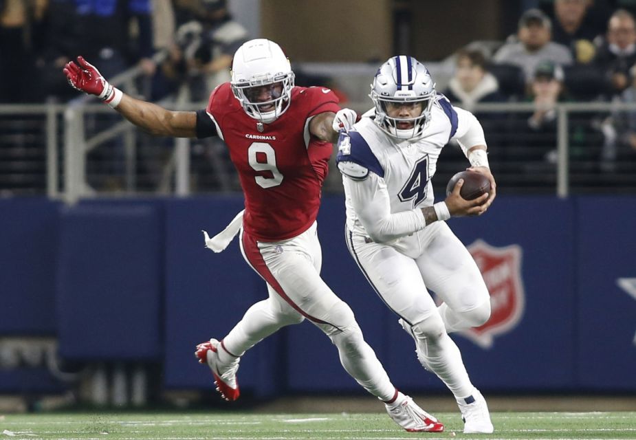
M 205 248 L 201 230 L 223 230 L 243 209 L 243 197 L 173 199 L 166 204 L 166 351 L 164 381 L 169 388 L 212 390 L 207 366 L 195 346 L 221 339 L 256 301 L 267 298 L 265 282 L 239 250 L 238 237 L 220 254 Z M 241 388 L 267 395 L 276 386 L 274 364 L 280 335 L 268 338 L 241 362 Z

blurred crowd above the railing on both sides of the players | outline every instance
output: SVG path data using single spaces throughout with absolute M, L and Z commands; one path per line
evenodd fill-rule
M 535 8 L 518 17 L 515 34 L 455 54 L 455 98 L 531 99 L 542 62 L 567 67 L 555 79 L 569 99 L 611 99 L 633 89 L 636 0 L 523 3 Z M 193 100 L 205 99 L 229 78 L 234 51 L 259 36 L 234 21 L 226 0 L 0 0 L 0 37 L 0 102 L 24 103 L 74 98 L 60 72 L 78 54 L 107 78 L 139 65 L 153 78 L 155 99 L 205 78 L 206 85 L 193 86 Z M 156 63 L 160 50 L 168 58 Z M 509 66 L 522 69 L 527 87 Z M 484 98 L 484 88 L 499 93 Z

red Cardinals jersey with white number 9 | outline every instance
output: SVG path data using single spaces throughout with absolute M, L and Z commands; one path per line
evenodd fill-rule
M 207 111 L 239 172 L 245 232 L 261 241 L 281 241 L 314 223 L 333 146 L 309 133 L 309 121 L 338 110 L 331 90 L 294 87 L 287 111 L 271 124 L 260 124 L 234 98 L 230 83 L 212 91 Z

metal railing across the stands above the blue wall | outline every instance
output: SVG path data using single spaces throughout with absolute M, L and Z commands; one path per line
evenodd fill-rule
M 187 111 L 204 108 L 206 103 L 181 106 L 164 103 L 164 106 Z M 354 104 L 351 107 L 364 111 L 369 106 Z M 485 115 L 489 113 L 493 116 L 490 119 L 499 123 L 497 128 L 491 124 L 485 131 L 487 140 L 503 136 L 505 141 L 502 145 L 488 141 L 491 165 L 501 190 L 551 192 L 559 197 L 567 197 L 573 190 L 636 192 L 636 150 L 622 146 L 621 151 L 626 155 L 614 155 L 610 162 L 603 162 L 603 151 L 609 142 L 607 136 L 591 137 L 589 144 L 580 147 L 576 146 L 578 134 L 574 130 L 577 125 L 596 124 L 595 133 L 602 133 L 603 126 L 599 124 L 611 126 L 612 118 L 619 114 L 636 115 L 636 104 L 558 104 L 553 145 L 549 145 L 552 142 L 549 140 L 540 146 L 546 151 L 552 147 L 556 151 L 551 163 L 537 158 L 537 147 L 529 146 L 528 138 L 516 126 L 509 127 L 508 134 L 502 128 L 507 118 L 526 121 L 534 111 L 533 104 L 481 104 L 472 111 L 479 114 L 484 126 Z M 0 105 L 0 191 L 13 195 L 47 195 L 74 203 L 82 197 L 104 195 L 186 196 L 195 192 L 239 190 L 224 148 L 218 144 L 212 147 L 206 142 L 149 137 L 102 104 Z M 140 148 L 145 156 L 140 154 Z M 576 148 L 583 153 L 575 154 Z M 444 151 L 447 149 L 452 147 Z M 441 188 L 443 179 L 466 164 L 465 158 L 456 153 L 445 157 L 444 151 L 434 178 L 437 189 Z M 92 157 L 96 152 L 101 156 Z M 501 152 L 507 157 L 497 159 Z M 28 166 L 28 160 L 21 155 L 36 157 L 38 165 Z M 157 159 L 157 155 L 161 157 Z M 100 161 L 108 164 L 105 170 L 99 169 Z M 149 166 L 147 161 L 157 164 Z M 201 161 L 206 162 L 204 168 Z M 144 170 L 143 173 L 140 170 Z M 223 173 L 227 175 L 219 179 Z M 30 183 L 28 177 L 32 178 Z M 120 186 L 111 188 L 104 184 L 110 178 L 120 179 Z M 340 190 L 338 173 L 331 173 L 331 179 L 327 190 Z

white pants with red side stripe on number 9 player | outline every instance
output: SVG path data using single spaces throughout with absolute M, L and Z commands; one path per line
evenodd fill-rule
M 364 341 L 353 311 L 320 278 L 322 252 L 315 222 L 303 234 L 274 243 L 256 241 L 241 230 L 241 252 L 267 282 L 269 298 L 252 305 L 223 338 L 230 353 L 243 355 L 281 327 L 307 318 L 338 347 L 342 366 L 366 391 L 383 401 L 395 397 L 395 386 Z

